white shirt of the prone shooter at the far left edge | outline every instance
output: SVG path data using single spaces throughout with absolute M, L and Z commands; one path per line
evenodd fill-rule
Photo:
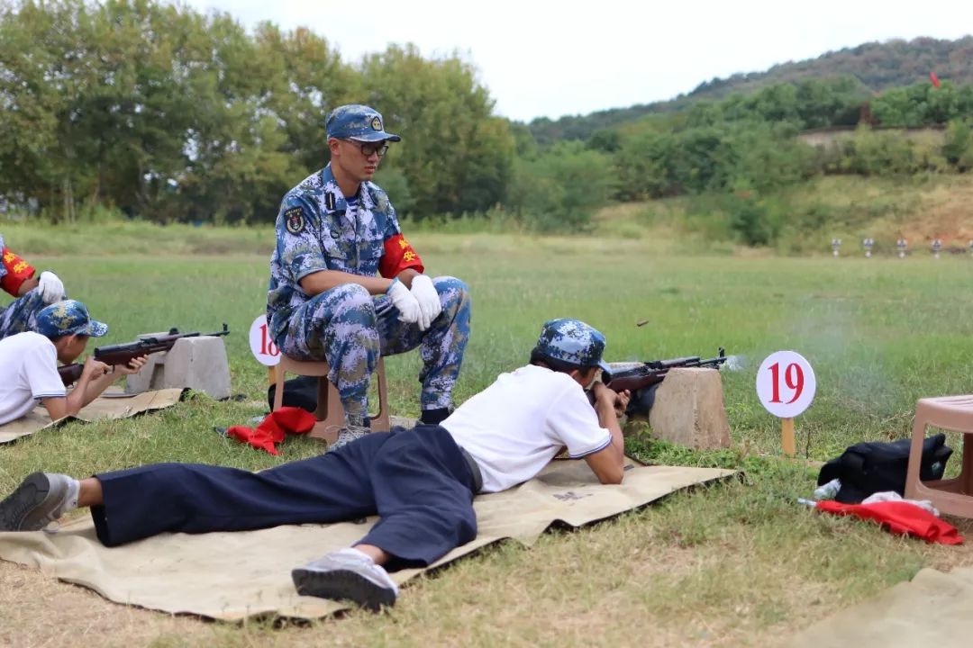
M 34 332 L 0 340 L 0 426 L 24 416 L 41 398 L 64 395 L 54 342 Z

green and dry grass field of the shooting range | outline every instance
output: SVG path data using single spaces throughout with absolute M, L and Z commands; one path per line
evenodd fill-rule
M 266 370 L 251 358 L 246 332 L 264 308 L 270 230 L 139 227 L 69 237 L 4 225 L 3 233 L 111 325 L 105 343 L 230 324 L 233 391 L 243 398 L 196 395 L 157 414 L 63 426 L 0 448 L 0 492 L 41 468 L 87 475 L 193 460 L 255 469 L 320 451 L 291 439 L 271 458 L 213 431 L 266 411 Z M 301 627 L 170 618 L 3 563 L 0 583 L 14 586 L 0 587 L 0 637 L 13 637 L 10 645 L 90 644 L 93 636 L 99 645 L 157 646 L 763 646 L 923 565 L 973 563 L 966 548 L 927 546 L 795 503 L 813 489 L 812 461 L 859 440 L 907 435 L 921 396 L 973 392 L 973 258 L 665 256 L 640 238 L 427 233 L 413 242 L 428 272 L 458 276 L 472 290 L 458 401 L 522 364 L 554 317 L 604 331 L 610 360 L 712 356 L 724 346 L 747 358 L 723 376 L 733 448 L 693 453 L 638 437 L 630 451 L 653 462 L 739 467 L 746 478 L 550 533 L 531 550 L 487 550 L 409 585 L 387 614 Z M 779 458 L 779 424 L 753 389 L 760 361 L 779 349 L 808 358 L 818 382 L 797 420 L 797 460 Z M 417 414 L 418 358 L 386 366 L 393 413 Z

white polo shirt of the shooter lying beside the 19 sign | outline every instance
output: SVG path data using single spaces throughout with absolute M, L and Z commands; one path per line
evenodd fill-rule
M 527 481 L 565 446 L 578 459 L 611 444 L 581 385 L 535 365 L 500 374 L 440 425 L 480 465 L 481 493 Z

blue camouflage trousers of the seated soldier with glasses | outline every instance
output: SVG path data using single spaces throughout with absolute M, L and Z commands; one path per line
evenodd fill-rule
M 449 407 L 470 336 L 471 300 L 458 279 L 436 277 L 432 283 L 443 312 L 424 331 L 400 322 L 399 309 L 388 296 L 376 297 L 357 284 L 344 284 L 294 309 L 280 350 L 291 358 L 328 362 L 328 379 L 338 388 L 352 425 L 361 425 L 367 415 L 367 392 L 379 355 L 394 356 L 416 347 L 422 358 L 420 407 Z

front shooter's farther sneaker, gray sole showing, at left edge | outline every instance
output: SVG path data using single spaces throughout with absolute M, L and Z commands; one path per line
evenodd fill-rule
M 0 531 L 44 529 L 64 511 L 70 477 L 50 472 L 27 475 L 17 490 L 0 502 Z

